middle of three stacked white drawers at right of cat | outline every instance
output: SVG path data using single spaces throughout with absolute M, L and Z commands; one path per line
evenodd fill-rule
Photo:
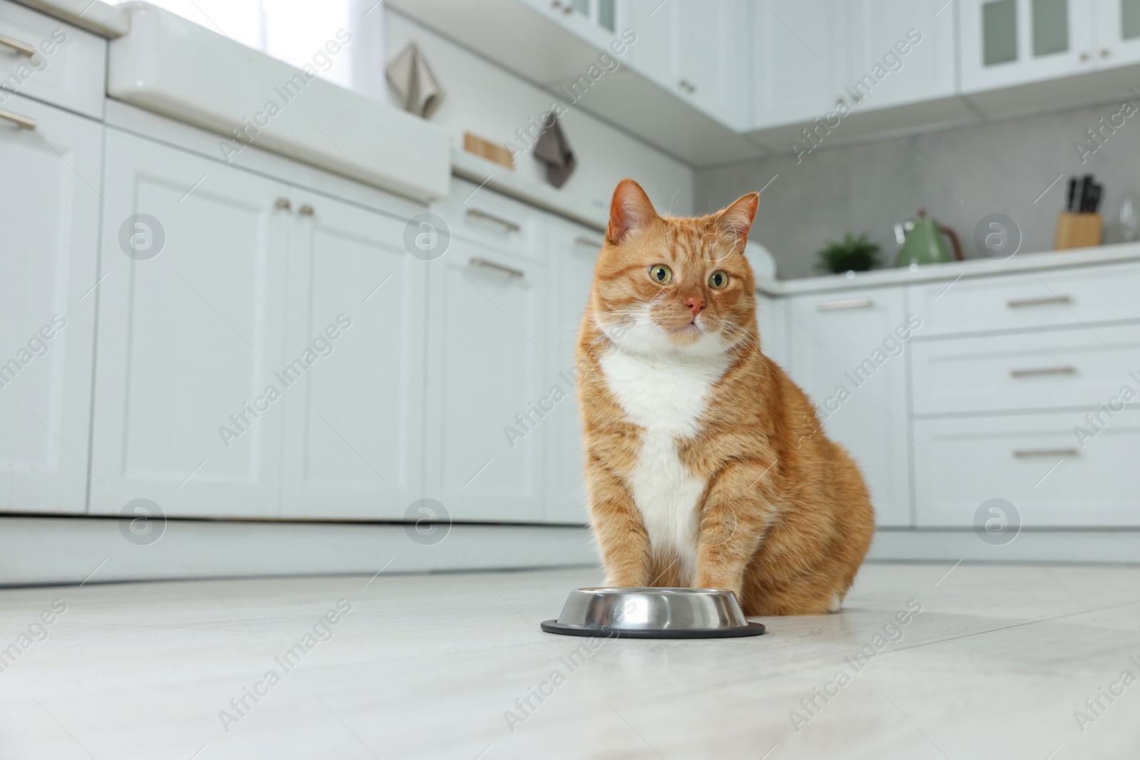
M 1094 407 L 1123 385 L 1140 392 L 1140 325 L 1093 329 L 915 343 L 914 414 Z

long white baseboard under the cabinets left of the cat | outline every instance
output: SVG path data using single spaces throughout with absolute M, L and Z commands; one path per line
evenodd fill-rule
M 125 521 L 0 516 L 0 586 L 253 575 L 521 569 L 597 563 L 589 530 L 168 520 L 161 537 Z M 443 532 L 446 530 L 446 532 Z

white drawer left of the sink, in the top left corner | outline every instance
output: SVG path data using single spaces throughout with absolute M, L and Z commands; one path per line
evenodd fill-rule
M 8 90 L 103 119 L 106 76 L 106 40 L 0 0 L 0 108 Z

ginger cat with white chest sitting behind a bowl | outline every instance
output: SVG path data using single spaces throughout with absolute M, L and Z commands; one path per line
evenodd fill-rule
M 578 337 L 586 491 L 608 586 L 735 593 L 749 615 L 839 608 L 874 516 L 807 397 L 760 352 L 743 250 L 759 195 L 659 216 L 613 193 Z

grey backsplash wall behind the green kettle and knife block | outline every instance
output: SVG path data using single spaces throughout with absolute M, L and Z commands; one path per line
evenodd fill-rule
M 1133 103 L 1140 103 L 1140 98 Z M 776 177 L 762 194 L 750 237 L 775 255 L 782 279 L 820 273 L 815 253 L 845 232 L 866 232 L 894 263 L 893 224 L 918 209 L 954 228 L 968 259 L 983 216 L 1004 213 L 1021 229 L 1020 253 L 1049 251 L 1068 177 L 1093 173 L 1105 186 L 1100 211 L 1105 243 L 1122 239 L 1122 198 L 1140 201 L 1140 114 L 1124 119 L 1082 163 L 1075 148 L 1086 130 L 1121 111 L 1121 103 L 1015 121 L 966 126 L 902 139 L 817 148 L 804 155 L 766 158 L 697 172 L 697 207 L 715 211 Z M 1117 123 L 1121 119 L 1116 120 Z M 790 153 L 790 147 L 789 147 Z M 1064 174 L 1043 196 L 1050 182 Z M 1041 196 L 1040 199 L 1039 196 Z M 1135 202 L 1134 201 L 1134 202 Z

